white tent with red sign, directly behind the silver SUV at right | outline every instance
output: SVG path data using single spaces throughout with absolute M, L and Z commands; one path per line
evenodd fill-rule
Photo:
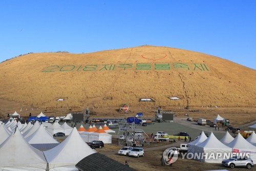
M 250 158 L 256 164 L 256 146 L 246 141 L 241 134 L 238 134 L 227 146 L 231 147 L 234 153 L 251 153 Z

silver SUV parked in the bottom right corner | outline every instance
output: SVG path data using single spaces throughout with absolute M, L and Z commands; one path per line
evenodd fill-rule
M 234 168 L 234 167 L 251 168 L 253 167 L 253 161 L 248 157 L 233 156 L 227 160 L 223 160 L 222 165 L 230 168 Z

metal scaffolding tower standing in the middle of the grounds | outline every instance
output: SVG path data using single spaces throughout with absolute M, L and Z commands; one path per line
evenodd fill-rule
M 123 139 L 119 139 L 119 145 L 125 146 L 143 146 L 150 145 L 150 136 L 142 129 L 142 122 L 136 124 L 135 122 L 119 124 L 118 135 L 123 135 Z

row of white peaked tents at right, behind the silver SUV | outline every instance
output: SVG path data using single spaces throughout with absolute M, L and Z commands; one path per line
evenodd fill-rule
M 218 140 L 214 133 L 207 136 L 202 133 L 200 136 L 188 143 L 188 153 L 192 154 L 222 154 L 221 157 L 212 159 L 207 157 L 201 157 L 200 155 L 195 155 L 196 159 L 209 163 L 221 163 L 226 154 L 231 153 L 249 153 L 250 158 L 256 163 L 256 134 L 252 132 L 249 138 L 244 139 L 241 134 L 238 134 L 236 138 L 233 138 L 228 132 Z M 198 156 L 198 157 L 197 157 Z

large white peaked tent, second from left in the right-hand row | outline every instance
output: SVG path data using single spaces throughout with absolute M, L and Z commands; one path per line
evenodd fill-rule
M 220 142 L 214 135 L 211 133 L 210 136 L 200 144 L 195 146 L 195 153 L 206 155 L 206 157 L 199 157 L 198 160 L 207 162 L 207 163 L 221 163 L 224 157 L 224 153 L 231 153 L 232 148 L 226 146 L 222 142 Z M 218 154 L 222 154 L 218 158 L 211 158 L 210 155 L 217 156 Z

